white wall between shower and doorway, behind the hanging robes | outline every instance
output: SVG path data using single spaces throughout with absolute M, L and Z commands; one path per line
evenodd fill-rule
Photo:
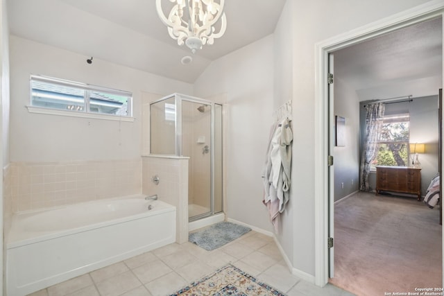
M 314 275 L 314 45 L 425 2 L 287 1 L 273 41 L 266 37 L 215 60 L 194 84 L 195 96 L 228 96 L 228 216 L 266 230 L 271 227 L 257 203 L 262 199 L 258 177 L 271 112 L 291 95 L 293 141 L 304 145 L 293 145 L 291 203 L 284 217 L 293 229 L 278 239 L 296 270 Z M 267 51 L 275 46 L 273 53 L 264 46 Z

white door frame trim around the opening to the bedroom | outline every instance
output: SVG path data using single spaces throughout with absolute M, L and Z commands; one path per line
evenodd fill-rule
M 327 104 L 327 69 L 328 54 L 339 49 L 344 49 L 352 44 L 358 44 L 365 40 L 370 40 L 389 32 L 393 32 L 399 28 L 405 28 L 411 24 L 418 24 L 422 21 L 441 17 L 443 15 L 443 4 L 441 6 L 423 7 L 415 12 L 406 12 L 404 15 L 393 19 L 393 22 L 379 21 L 367 26 L 361 31 L 355 31 L 349 35 L 341 35 L 336 39 L 332 38 L 326 42 L 316 44 L 316 141 L 319 145 L 315 150 L 316 159 L 319 159 L 315 165 L 315 236 L 316 236 L 316 276 L 315 282 L 318 286 L 327 284 L 329 275 L 329 216 L 330 208 L 328 207 L 329 185 L 328 185 L 328 166 L 325 161 L 328 155 L 328 139 L 329 139 L 329 112 Z M 441 49 L 442 53 L 442 49 Z M 442 72 L 442 70 L 441 70 Z M 442 153 L 442 151 L 440 151 Z M 332 200 L 333 203 L 333 200 Z M 333 247 L 334 248 L 334 247 Z

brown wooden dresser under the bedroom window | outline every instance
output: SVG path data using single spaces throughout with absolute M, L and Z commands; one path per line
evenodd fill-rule
M 407 166 L 377 166 L 376 194 L 393 191 L 415 194 L 421 200 L 421 169 Z

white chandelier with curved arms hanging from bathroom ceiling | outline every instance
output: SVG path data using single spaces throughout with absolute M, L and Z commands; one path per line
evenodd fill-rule
M 162 10 L 162 0 L 156 0 L 157 14 L 168 26 L 171 38 L 178 40 L 179 45 L 187 44 L 192 53 L 202 49 L 204 44 L 213 44 L 214 38 L 225 33 L 227 19 L 223 12 L 224 0 L 169 0 L 173 8 L 165 17 Z M 221 19 L 219 32 L 214 27 Z

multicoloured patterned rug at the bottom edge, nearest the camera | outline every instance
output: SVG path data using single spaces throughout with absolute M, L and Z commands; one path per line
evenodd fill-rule
M 231 264 L 225 265 L 212 275 L 194 281 L 189 286 L 178 290 L 170 296 L 285 296 L 284 293 L 271 288 L 255 277 L 248 275 Z

